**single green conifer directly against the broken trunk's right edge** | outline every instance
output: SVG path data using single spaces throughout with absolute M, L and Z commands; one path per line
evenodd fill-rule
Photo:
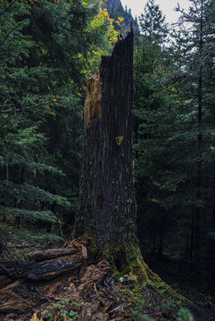
M 162 28 L 164 18 L 159 8 L 156 10 L 158 17 L 153 19 L 160 21 Z M 170 219 L 171 209 L 165 206 L 170 193 L 160 187 L 164 184 L 161 179 L 172 166 L 170 139 L 178 105 L 174 88 L 169 89 L 169 57 L 158 43 L 156 30 L 154 32 L 150 37 L 145 35 L 141 42 L 136 42 L 134 58 L 137 225 L 140 242 L 144 241 L 142 235 L 147 235 L 145 240 L 148 239 L 148 243 L 142 246 L 151 253 L 156 251 Z M 160 243 L 160 251 L 161 247 Z

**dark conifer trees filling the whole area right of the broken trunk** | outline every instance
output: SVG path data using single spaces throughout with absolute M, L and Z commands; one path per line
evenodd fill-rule
M 145 255 L 183 259 L 196 284 L 206 277 L 202 286 L 213 292 L 214 1 L 191 4 L 188 13 L 178 8 L 189 24 L 171 33 L 173 45 L 164 48 L 151 28 L 136 46 L 138 227 Z M 164 22 L 158 11 L 151 18 Z

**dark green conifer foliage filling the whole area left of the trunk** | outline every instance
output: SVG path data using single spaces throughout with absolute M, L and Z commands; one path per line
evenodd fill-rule
M 62 235 L 78 205 L 83 85 L 110 46 L 98 2 L 3 2 L 0 12 L 2 221 Z

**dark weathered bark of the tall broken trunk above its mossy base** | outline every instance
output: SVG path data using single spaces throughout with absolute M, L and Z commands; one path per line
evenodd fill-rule
M 132 161 L 133 31 L 103 56 L 99 75 L 89 80 L 75 235 L 90 231 L 97 246 L 136 240 Z M 101 108 L 95 89 L 101 84 Z M 91 92 L 91 97 L 90 97 Z M 90 103 L 91 99 L 91 103 Z M 96 102 L 95 102 L 96 101 Z M 92 102 L 94 105 L 92 105 Z M 90 111 L 87 110 L 87 104 Z

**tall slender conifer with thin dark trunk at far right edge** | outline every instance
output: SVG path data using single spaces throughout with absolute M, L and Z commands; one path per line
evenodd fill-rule
M 191 0 L 189 11 L 185 12 L 179 6 L 180 17 L 180 63 L 181 75 L 178 78 L 180 83 L 180 93 L 185 99 L 186 124 L 189 122 L 192 131 L 186 136 L 189 144 L 193 145 L 193 153 L 189 160 L 193 168 L 192 176 L 187 177 L 193 191 L 189 191 L 189 200 L 193 204 L 192 212 L 192 240 L 191 257 L 194 259 L 194 271 L 201 284 L 203 267 L 203 239 L 205 239 L 205 229 L 203 219 L 211 215 L 212 208 L 210 189 L 213 185 L 213 178 L 208 177 L 209 171 L 213 173 L 213 161 L 211 157 L 211 147 L 213 137 L 211 135 L 214 126 L 211 121 L 211 83 L 213 78 L 209 77 L 213 62 L 214 47 L 214 1 Z M 186 24 L 185 28 L 182 28 Z M 209 99 L 210 97 L 210 99 Z M 189 110 L 189 113 L 187 113 Z M 190 130 L 190 126 L 188 127 Z M 213 177 L 213 174 L 212 174 Z M 211 204 L 211 205 L 209 205 Z M 203 218 L 204 216 L 204 218 Z

